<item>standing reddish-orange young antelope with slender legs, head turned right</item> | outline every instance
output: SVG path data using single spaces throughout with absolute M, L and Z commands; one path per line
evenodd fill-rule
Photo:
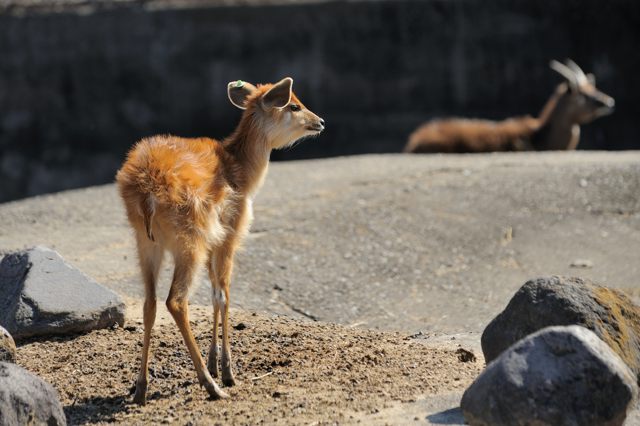
M 229 285 L 234 252 L 247 233 L 251 200 L 262 185 L 271 150 L 324 130 L 324 120 L 291 91 L 293 80 L 254 86 L 229 83 L 229 100 L 244 110 L 222 142 L 208 138 L 153 136 L 129 152 L 116 180 L 135 231 L 145 286 L 142 363 L 134 402 L 145 404 L 149 342 L 156 315 L 156 281 L 165 250 L 175 269 L 167 308 L 198 373 L 214 398 L 226 398 L 218 377 L 218 321 L 222 314 L 222 382 L 233 386 L 229 348 Z M 213 293 L 213 340 L 207 368 L 189 326 L 188 296 L 198 269 L 207 265 Z M 208 371 L 207 371 L 208 370 Z

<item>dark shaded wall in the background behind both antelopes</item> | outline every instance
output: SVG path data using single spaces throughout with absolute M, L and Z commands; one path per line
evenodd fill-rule
M 640 147 L 639 2 L 254 3 L 0 3 L 0 201 L 112 181 L 145 135 L 226 135 L 238 78 L 290 75 L 327 121 L 284 160 L 397 152 L 437 116 L 536 114 L 549 60 L 571 57 L 617 101 L 581 148 Z

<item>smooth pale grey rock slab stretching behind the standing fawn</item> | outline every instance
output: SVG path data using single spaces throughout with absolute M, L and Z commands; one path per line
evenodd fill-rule
M 238 253 L 231 305 L 411 333 L 482 333 L 531 271 L 575 274 L 576 258 L 594 263 L 581 276 L 640 294 L 638 194 L 640 151 L 273 163 Z M 3 249 L 54 246 L 110 289 L 143 297 L 113 185 L 0 204 L 0 218 Z M 167 256 L 160 300 L 172 272 Z M 210 307 L 203 278 L 191 302 Z

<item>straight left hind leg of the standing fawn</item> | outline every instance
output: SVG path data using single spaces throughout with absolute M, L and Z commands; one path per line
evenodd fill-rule
M 162 264 L 164 250 L 159 244 L 150 241 L 146 235 L 137 233 L 138 259 L 144 281 L 144 340 L 142 345 L 142 360 L 140 372 L 136 380 L 136 393 L 133 402 L 145 405 L 147 402 L 147 384 L 149 382 L 149 345 L 151 330 L 156 319 L 156 282 Z

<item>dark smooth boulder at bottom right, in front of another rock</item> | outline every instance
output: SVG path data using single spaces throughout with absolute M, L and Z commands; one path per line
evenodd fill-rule
M 635 381 L 592 331 L 547 327 L 489 364 L 461 407 L 470 425 L 622 425 Z

